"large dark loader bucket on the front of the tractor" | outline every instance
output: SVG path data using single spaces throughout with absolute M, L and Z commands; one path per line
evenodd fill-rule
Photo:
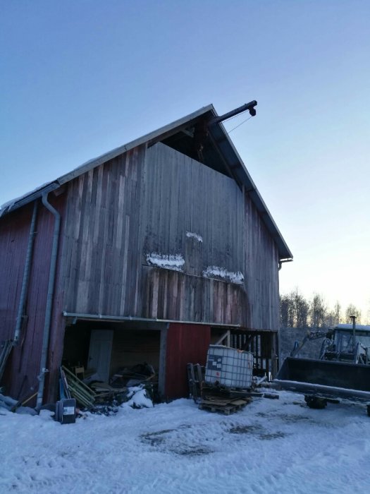
M 274 382 L 284 390 L 370 403 L 370 366 L 288 357 Z

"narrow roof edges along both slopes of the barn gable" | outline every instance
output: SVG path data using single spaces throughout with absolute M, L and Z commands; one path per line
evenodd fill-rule
M 75 179 L 76 177 L 85 174 L 87 171 L 95 167 L 99 167 L 100 164 L 109 161 L 109 159 L 113 159 L 123 152 L 127 152 L 133 147 L 137 147 L 144 143 L 153 144 L 159 142 L 160 140 L 164 140 L 174 133 L 178 133 L 185 128 L 189 128 L 192 126 L 192 123 L 195 123 L 200 117 L 206 116 L 209 113 L 209 116 L 218 116 L 216 110 L 214 109 L 213 104 L 209 104 L 206 107 L 203 107 L 196 112 L 193 112 L 187 116 L 184 116 L 182 119 L 178 119 L 173 123 L 169 123 L 168 125 L 157 129 L 154 132 L 143 135 L 142 137 L 132 140 L 130 143 L 116 147 L 109 152 L 104 153 L 97 158 L 90 159 L 84 164 L 80 165 L 68 172 L 60 176 L 58 179 L 45 183 L 43 186 L 36 188 L 34 191 L 31 191 L 20 198 L 16 198 L 14 200 L 9 201 L 8 203 L 1 206 L 0 216 L 4 216 L 8 214 L 8 212 L 17 210 L 19 207 L 32 202 L 37 198 L 40 198 L 43 193 L 50 192 L 56 190 L 58 187 L 63 185 L 63 183 L 67 183 L 70 180 Z M 211 133 L 211 138 L 214 142 L 214 145 L 218 148 L 218 151 L 223 155 L 223 158 L 226 160 L 228 167 L 232 171 L 233 177 L 236 181 L 243 184 L 245 186 L 245 190 L 249 193 L 252 202 L 257 207 L 259 214 L 261 215 L 264 224 L 266 224 L 266 228 L 269 230 L 271 236 L 278 246 L 279 258 L 280 259 L 292 259 L 292 253 L 290 252 L 283 236 L 280 234 L 276 223 L 273 221 L 273 217 L 269 212 L 264 200 L 261 198 L 257 187 L 252 181 L 252 177 L 249 175 L 245 164 L 242 162 L 242 159 L 238 155 L 235 146 L 230 140 L 226 129 L 223 127 L 222 123 L 215 123 L 209 126 L 209 133 Z

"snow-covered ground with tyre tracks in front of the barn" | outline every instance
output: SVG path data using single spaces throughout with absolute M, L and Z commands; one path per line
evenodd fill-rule
M 366 407 L 279 395 L 230 416 L 179 399 L 68 425 L 0 409 L 0 492 L 368 492 Z

